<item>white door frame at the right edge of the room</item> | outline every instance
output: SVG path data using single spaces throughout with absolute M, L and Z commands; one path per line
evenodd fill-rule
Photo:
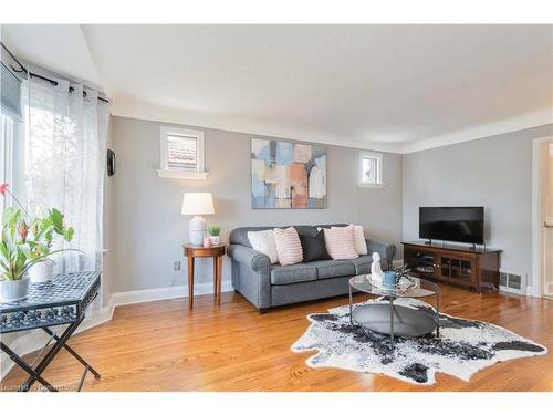
M 543 227 L 542 227 L 542 187 L 540 147 L 543 143 L 553 143 L 553 135 L 532 141 L 532 287 L 528 295 L 542 297 L 545 282 L 543 276 Z M 530 288 L 530 287 L 529 287 Z

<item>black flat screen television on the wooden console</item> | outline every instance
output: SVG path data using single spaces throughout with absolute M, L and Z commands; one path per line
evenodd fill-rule
M 420 207 L 419 238 L 482 245 L 483 206 Z

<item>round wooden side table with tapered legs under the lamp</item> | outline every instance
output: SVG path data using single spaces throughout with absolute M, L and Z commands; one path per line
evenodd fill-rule
M 182 245 L 188 262 L 188 308 L 194 307 L 194 259 L 213 258 L 213 295 L 218 304 L 221 303 L 221 280 L 222 280 L 222 256 L 227 250 L 227 245 L 219 243 L 209 248 L 200 245 Z

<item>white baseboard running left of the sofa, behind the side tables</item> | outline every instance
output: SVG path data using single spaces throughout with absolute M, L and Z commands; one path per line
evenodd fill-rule
M 223 280 L 221 291 L 232 291 L 232 284 L 230 280 Z M 201 283 L 194 286 L 194 294 L 211 294 L 213 292 L 212 283 Z M 188 297 L 188 286 L 174 286 L 174 287 L 163 287 L 154 288 L 148 290 L 136 290 L 136 291 L 123 291 L 115 292 L 109 298 L 107 305 L 100 309 L 93 310 L 88 317 L 82 322 L 75 334 L 81 333 L 85 330 L 95 328 L 96 325 L 103 324 L 113 318 L 113 313 L 116 307 L 135 304 L 139 302 L 158 301 L 158 300 L 170 300 L 176 298 L 187 298 Z M 2 336 L 6 336 L 3 334 Z M 24 332 L 17 336 L 8 346 L 13 350 L 20 356 L 41 350 L 48 342 L 49 336 L 42 330 L 32 330 Z M 0 380 L 2 380 L 15 365 L 6 353 L 0 355 Z

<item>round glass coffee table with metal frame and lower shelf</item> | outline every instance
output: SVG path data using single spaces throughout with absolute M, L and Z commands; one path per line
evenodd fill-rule
M 358 324 L 365 330 L 389 335 L 394 347 L 394 338 L 417 338 L 436 330 L 440 335 L 440 288 L 438 284 L 411 277 L 415 286 L 407 289 L 387 289 L 372 284 L 367 276 L 355 276 L 349 279 L 349 323 Z M 374 302 L 353 308 L 353 290 L 371 295 L 383 297 L 382 302 Z M 435 298 L 436 309 L 413 309 L 395 304 L 400 298 L 425 299 Z

